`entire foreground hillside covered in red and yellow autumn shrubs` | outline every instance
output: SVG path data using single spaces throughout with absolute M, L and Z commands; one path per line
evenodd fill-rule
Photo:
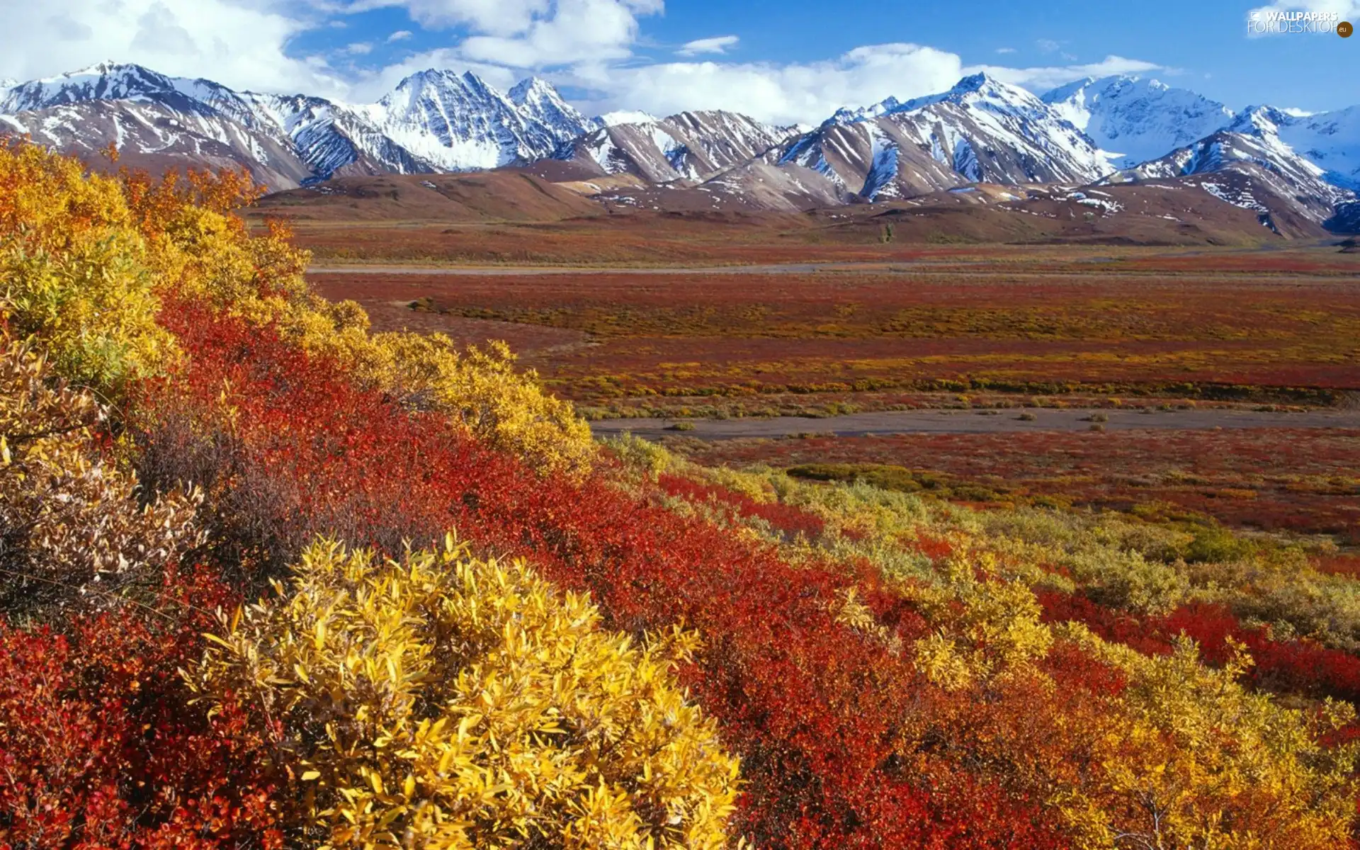
M 0 150 L 0 846 L 1352 846 L 1336 554 L 600 446 Z

